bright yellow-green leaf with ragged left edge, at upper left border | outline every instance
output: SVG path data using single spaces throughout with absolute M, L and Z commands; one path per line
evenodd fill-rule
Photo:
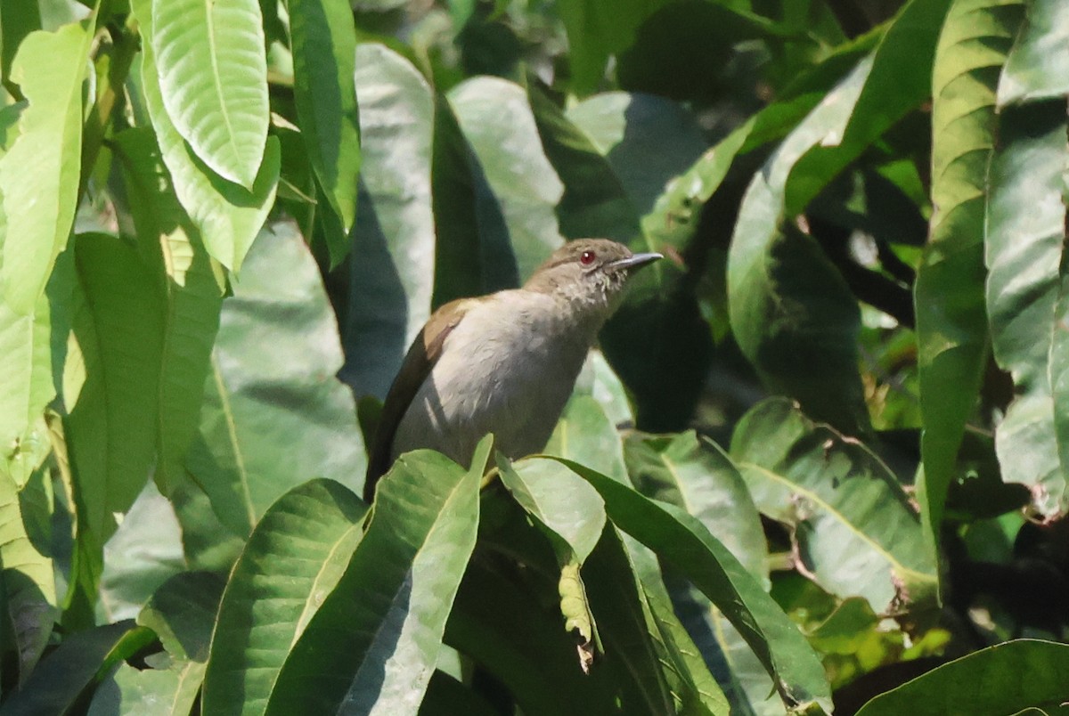
M 17 314 L 34 310 L 74 224 L 92 26 L 30 33 L 12 67 L 12 80 L 30 100 L 19 118 L 18 138 L 0 158 L 5 217 L 0 286 Z

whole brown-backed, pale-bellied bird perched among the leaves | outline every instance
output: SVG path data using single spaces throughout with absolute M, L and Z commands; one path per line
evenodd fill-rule
M 664 256 L 606 238 L 568 242 L 521 289 L 460 298 L 435 311 L 393 379 L 365 478 L 402 453 L 431 448 L 461 465 L 494 434 L 510 458 L 541 451 L 587 353 L 620 306 L 634 273 Z

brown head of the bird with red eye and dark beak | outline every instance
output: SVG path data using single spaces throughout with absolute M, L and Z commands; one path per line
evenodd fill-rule
M 623 298 L 628 279 L 662 258 L 660 253 L 633 253 L 607 238 L 578 238 L 554 251 L 524 289 L 567 300 L 577 311 L 607 317 Z

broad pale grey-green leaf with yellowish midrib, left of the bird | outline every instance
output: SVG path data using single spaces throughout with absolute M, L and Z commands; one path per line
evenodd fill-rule
M 315 261 L 292 223 L 273 224 L 223 301 L 186 463 L 233 534 L 245 538 L 308 479 L 360 486 L 365 456 L 353 395 L 335 377 L 341 362 Z

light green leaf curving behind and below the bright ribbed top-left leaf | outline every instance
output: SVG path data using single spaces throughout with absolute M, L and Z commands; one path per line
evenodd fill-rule
M 279 143 L 277 139 L 270 138 L 266 140 L 266 144 L 261 142 L 255 164 L 259 171 L 248 188 L 218 175 L 193 151 L 175 127 L 164 104 L 165 93 L 157 76 L 152 43 L 152 10 L 156 4 L 159 3 L 152 3 L 151 0 L 131 2 L 140 22 L 141 35 L 148 38 L 142 43 L 141 53 L 141 90 L 144 103 L 156 131 L 164 164 L 171 174 L 174 193 L 200 230 L 208 253 L 227 268 L 236 271 L 275 201 L 281 164 Z

